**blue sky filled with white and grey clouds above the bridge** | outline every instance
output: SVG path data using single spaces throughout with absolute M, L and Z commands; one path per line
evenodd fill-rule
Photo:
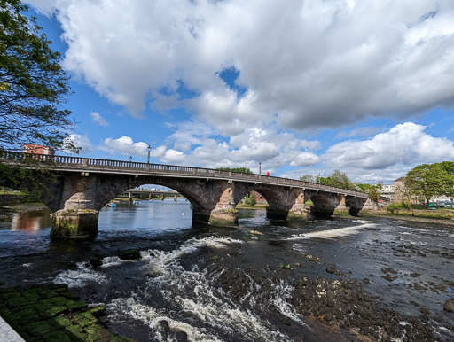
M 358 183 L 454 160 L 452 0 L 26 3 L 82 157 Z

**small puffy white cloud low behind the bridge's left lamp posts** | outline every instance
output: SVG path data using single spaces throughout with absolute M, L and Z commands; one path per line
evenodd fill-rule
M 111 153 L 143 157 L 148 153 L 147 147 L 148 144 L 144 142 L 134 143 L 130 136 L 121 136 L 118 139 L 106 138 L 99 149 Z M 158 146 L 150 151 L 150 156 L 161 157 L 165 152 L 165 146 Z

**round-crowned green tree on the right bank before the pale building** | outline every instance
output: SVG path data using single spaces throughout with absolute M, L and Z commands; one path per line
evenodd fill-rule
M 424 198 L 426 207 L 429 206 L 430 198 L 445 193 L 448 183 L 450 175 L 441 163 L 413 167 L 405 177 L 405 187 L 408 186 L 417 196 Z

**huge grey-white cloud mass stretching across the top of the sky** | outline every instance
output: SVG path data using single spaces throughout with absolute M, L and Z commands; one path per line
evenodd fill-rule
M 224 135 L 257 120 L 337 128 L 454 104 L 451 0 L 29 3 L 55 11 L 64 67 L 136 116 L 177 80 L 200 94 L 181 105 Z M 243 97 L 217 76 L 230 66 Z

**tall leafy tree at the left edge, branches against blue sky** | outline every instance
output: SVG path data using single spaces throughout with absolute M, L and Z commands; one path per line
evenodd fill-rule
M 20 0 L 0 0 L 0 151 L 20 151 L 22 144 L 77 149 L 64 143 L 74 126 L 61 109 L 70 93 L 68 77 L 59 65 L 60 53 L 27 19 Z

